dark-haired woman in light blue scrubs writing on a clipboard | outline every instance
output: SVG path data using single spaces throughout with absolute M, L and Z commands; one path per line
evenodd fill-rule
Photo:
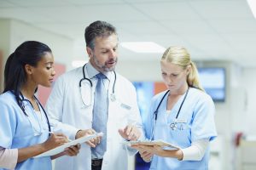
M 7 59 L 4 90 L 0 95 L 0 169 L 52 169 L 51 158 L 76 156 L 80 145 L 56 156 L 32 158 L 68 142 L 61 133 L 50 133 L 49 119 L 36 96 L 38 85 L 50 87 L 54 57 L 42 42 L 20 44 Z

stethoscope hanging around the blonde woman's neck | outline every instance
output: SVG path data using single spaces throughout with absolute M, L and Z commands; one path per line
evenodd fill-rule
M 166 98 L 166 95 L 167 95 L 169 92 L 170 92 L 170 90 L 167 90 L 167 91 L 166 91 L 166 94 L 164 94 L 164 96 L 162 97 L 162 99 L 160 99 L 160 103 L 157 105 L 156 110 L 154 111 L 154 123 L 153 123 L 153 127 L 152 127 L 152 130 L 151 130 L 150 140 L 152 140 L 152 139 L 153 139 L 153 136 L 154 136 L 154 127 L 155 127 L 155 123 L 156 123 L 156 121 L 157 121 L 158 110 L 159 110 L 160 105 L 162 104 L 163 100 Z M 185 94 L 185 96 L 184 96 L 184 98 L 183 98 L 183 101 L 182 101 L 181 105 L 179 106 L 179 109 L 178 109 L 177 115 L 176 115 L 176 120 L 177 120 L 177 118 L 178 118 L 178 116 L 179 116 L 179 112 L 181 111 L 181 109 L 182 109 L 182 107 L 183 107 L 183 103 L 184 103 L 184 101 L 186 100 L 188 93 L 189 93 L 189 88 L 187 89 L 186 94 Z M 170 124 L 170 127 L 171 127 L 172 130 L 175 130 L 175 129 L 177 128 L 177 122 L 172 122 L 172 123 Z

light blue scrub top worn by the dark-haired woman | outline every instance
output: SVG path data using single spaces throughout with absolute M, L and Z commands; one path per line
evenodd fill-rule
M 3 148 L 25 148 L 43 143 L 49 138 L 47 119 L 43 109 L 40 107 L 41 120 L 41 116 L 33 111 L 29 102 L 23 103 L 27 116 L 17 105 L 14 94 L 6 92 L 0 95 L 0 146 Z M 15 169 L 51 170 L 51 159 L 49 156 L 30 158 L 17 163 Z

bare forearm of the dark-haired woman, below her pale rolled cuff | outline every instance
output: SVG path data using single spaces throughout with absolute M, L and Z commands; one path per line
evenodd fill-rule
M 43 144 L 35 144 L 26 148 L 18 149 L 18 162 L 25 161 L 33 156 L 37 156 L 47 151 Z

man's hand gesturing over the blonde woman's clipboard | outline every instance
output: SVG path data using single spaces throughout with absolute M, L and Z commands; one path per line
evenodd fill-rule
M 137 140 L 141 136 L 139 128 L 134 125 L 128 125 L 124 129 L 120 128 L 119 134 L 126 140 Z

